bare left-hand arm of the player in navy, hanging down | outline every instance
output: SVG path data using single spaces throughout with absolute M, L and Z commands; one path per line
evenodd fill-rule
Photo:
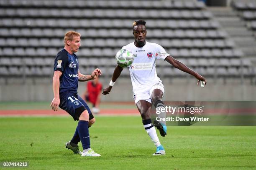
M 58 110 L 60 99 L 59 99 L 59 77 L 62 75 L 61 71 L 54 71 L 54 76 L 52 79 L 52 90 L 54 92 L 54 99 L 51 102 L 51 109 L 54 111 Z

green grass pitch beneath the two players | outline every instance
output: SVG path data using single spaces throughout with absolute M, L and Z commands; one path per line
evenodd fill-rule
M 153 157 L 140 117 L 96 119 L 91 147 L 102 156 L 85 158 L 65 148 L 77 125 L 72 117 L 0 117 L 0 162 L 29 162 L 33 170 L 256 169 L 255 126 L 169 126 L 159 137 L 166 155 Z

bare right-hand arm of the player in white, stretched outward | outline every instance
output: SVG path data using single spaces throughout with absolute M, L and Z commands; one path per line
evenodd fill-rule
M 189 73 L 189 74 L 195 76 L 195 77 L 197 78 L 197 80 L 198 80 L 197 85 L 199 85 L 199 82 L 200 82 L 200 81 L 204 81 L 204 82 L 205 82 L 205 85 L 206 85 L 206 82 L 207 82 L 207 81 L 206 81 L 205 77 L 203 77 L 203 76 L 201 76 L 200 74 L 198 74 L 197 72 L 191 70 L 189 67 L 187 67 L 186 65 L 184 65 L 182 62 L 180 62 L 180 61 L 174 59 L 174 58 L 171 57 L 171 56 L 166 57 L 165 60 L 166 60 L 167 62 L 169 62 L 171 65 L 173 65 L 175 68 L 178 68 L 179 70 L 182 70 L 182 71 L 184 71 L 184 72 L 187 72 L 187 73 Z

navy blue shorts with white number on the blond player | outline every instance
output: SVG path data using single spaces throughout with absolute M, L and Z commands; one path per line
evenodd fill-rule
M 59 94 L 59 107 L 69 113 L 74 120 L 79 120 L 82 112 L 78 110 L 87 110 L 89 113 L 89 120 L 93 118 L 92 112 L 86 102 L 77 95 L 77 92 L 62 92 Z

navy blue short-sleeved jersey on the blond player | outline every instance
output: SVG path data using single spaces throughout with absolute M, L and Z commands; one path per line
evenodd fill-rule
M 62 49 L 58 52 L 54 60 L 54 71 L 62 72 L 60 77 L 59 93 L 61 92 L 77 92 L 78 87 L 78 59 L 73 53 Z

